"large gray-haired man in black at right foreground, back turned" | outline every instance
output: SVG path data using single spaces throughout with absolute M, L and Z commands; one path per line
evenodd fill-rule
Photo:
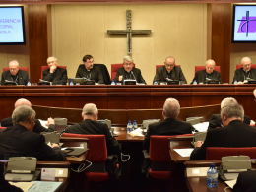
M 244 111 L 241 105 L 226 105 L 221 116 L 224 127 L 208 131 L 204 142 L 197 141 L 190 160 L 206 160 L 208 147 L 256 147 L 256 129 L 242 122 Z

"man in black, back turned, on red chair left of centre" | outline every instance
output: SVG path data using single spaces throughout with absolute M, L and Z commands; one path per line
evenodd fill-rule
M 121 147 L 111 135 L 107 125 L 97 121 L 98 110 L 95 104 L 86 104 L 82 112 L 83 121 L 65 129 L 65 133 L 105 135 L 108 155 L 120 155 Z

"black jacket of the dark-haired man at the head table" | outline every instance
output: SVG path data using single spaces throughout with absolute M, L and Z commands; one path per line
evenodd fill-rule
M 78 71 L 76 74 L 76 78 L 87 78 L 87 69 L 85 67 L 85 65 L 80 65 L 78 67 Z M 98 84 L 104 84 L 104 80 L 103 80 L 103 76 L 101 71 L 99 70 L 98 67 L 96 67 L 95 65 L 93 65 L 93 68 L 91 69 L 91 80 L 95 80 L 96 83 Z

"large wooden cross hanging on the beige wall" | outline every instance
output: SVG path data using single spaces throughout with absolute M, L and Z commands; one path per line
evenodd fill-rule
M 108 30 L 107 34 L 127 35 L 127 55 L 132 54 L 132 34 L 150 34 L 151 30 L 132 30 L 132 11 L 126 10 L 126 30 Z

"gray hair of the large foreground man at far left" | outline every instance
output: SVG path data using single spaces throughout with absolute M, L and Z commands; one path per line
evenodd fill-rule
M 12 120 L 13 124 L 18 124 L 19 122 L 28 122 L 30 117 L 35 119 L 35 111 L 27 105 L 21 105 L 18 106 L 14 109 L 13 115 L 12 115 Z

